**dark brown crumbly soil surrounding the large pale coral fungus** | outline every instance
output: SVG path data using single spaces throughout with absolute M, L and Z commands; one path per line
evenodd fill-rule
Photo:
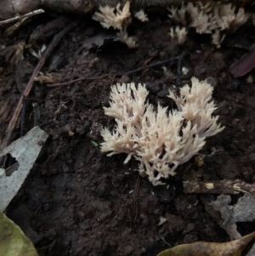
M 38 124 L 49 138 L 7 214 L 36 243 L 40 255 L 155 256 L 168 247 L 167 243 L 174 246 L 184 242 L 228 240 L 225 231 L 205 211 L 199 195 L 183 192 L 182 174 L 198 169 L 194 160 L 179 167 L 176 177 L 167 180 L 168 189 L 154 187 L 134 171 L 137 168 L 134 160 L 124 165 L 124 155 L 107 157 L 92 143 L 102 142 L 100 130 L 114 124 L 103 110 L 108 104 L 112 84 L 145 82 L 150 90 L 150 102 L 169 104 L 166 95 L 177 75 L 175 62 L 164 65 L 166 71 L 159 65 L 130 76 L 122 74 L 167 60 L 185 49 L 189 54 L 184 57 L 183 65 L 189 73 L 183 81 L 189 82 L 193 76 L 209 77 L 215 86 L 213 98 L 218 103 L 217 114 L 225 126 L 222 133 L 207 140 L 201 151 L 202 156 L 208 156 L 201 166 L 202 179 L 254 182 L 255 74 L 251 71 L 241 79 L 229 74 L 229 65 L 245 54 L 246 49 L 228 44 L 216 49 L 209 43 L 209 37 L 193 35 L 192 31 L 188 42 L 178 47 L 167 35 L 171 26 L 167 14 L 154 12 L 149 17 L 149 23 L 135 21 L 130 27 L 130 34 L 135 35 L 140 44 L 132 50 L 118 42 L 88 48 L 87 40 L 105 30 L 90 19 L 80 20 L 77 28 L 54 50 L 42 72 L 53 70 L 59 82 L 108 76 L 56 88 L 36 82 L 25 102 L 23 134 L 33 126 L 32 103 L 37 102 L 40 107 Z M 38 25 L 45 25 L 49 18 L 53 19 L 46 15 L 35 18 L 35 22 L 20 28 L 5 43 L 12 45 L 27 40 L 31 32 Z M 252 27 L 242 27 L 236 32 L 236 38 L 249 40 L 252 31 Z M 51 40 L 52 37 L 46 44 Z M 60 65 L 54 69 L 56 58 Z M 2 65 L 4 71 L 6 67 Z M 19 75 L 21 84 L 26 84 L 36 65 L 37 60 L 25 50 Z M 16 72 L 5 71 L 0 83 L 1 99 L 8 101 L 9 113 L 20 99 L 16 82 L 7 85 L 14 76 Z M 250 82 L 247 82 L 248 76 L 251 76 Z M 8 120 L 7 117 L 2 120 L 2 138 Z M 13 139 L 19 137 L 17 128 Z M 219 153 L 210 158 L 215 149 Z M 236 198 L 233 196 L 233 200 Z M 167 222 L 158 225 L 161 216 Z M 254 230 L 254 224 L 238 224 L 238 230 L 246 235 Z

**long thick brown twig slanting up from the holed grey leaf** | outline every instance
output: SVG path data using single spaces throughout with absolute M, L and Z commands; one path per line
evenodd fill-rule
M 47 50 L 42 55 L 42 57 L 39 60 L 36 68 L 34 69 L 32 75 L 31 75 L 30 80 L 27 82 L 26 88 L 25 88 L 23 94 L 20 97 L 19 103 L 16 106 L 14 114 L 13 114 L 10 122 L 8 123 L 8 128 L 6 130 L 6 134 L 5 134 L 5 137 L 3 139 L 3 143 L 1 145 L 0 150 L 3 150 L 9 144 L 9 141 L 10 141 L 11 135 L 13 134 L 16 122 L 17 122 L 17 120 L 18 120 L 18 118 L 20 116 L 20 111 L 22 109 L 23 100 L 26 99 L 26 97 L 30 94 L 31 89 L 33 88 L 34 79 L 35 79 L 35 77 L 37 77 L 39 71 L 42 68 L 42 65 L 44 65 L 45 61 L 48 59 L 48 56 L 52 53 L 54 48 L 59 44 L 59 42 L 62 39 L 62 37 L 64 37 L 65 34 L 68 33 L 69 31 L 71 31 L 75 26 L 77 26 L 77 22 L 74 22 L 70 26 L 65 27 L 65 29 L 60 31 L 59 34 L 54 36 L 53 41 L 48 45 Z

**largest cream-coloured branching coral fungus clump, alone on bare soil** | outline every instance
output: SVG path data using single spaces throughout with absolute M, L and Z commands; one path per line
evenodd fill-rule
M 180 89 L 179 97 L 169 90 L 168 97 L 178 106 L 169 112 L 161 105 L 154 110 L 142 84 L 138 88 L 134 83 L 113 86 L 110 107 L 104 109 L 105 115 L 115 117 L 116 126 L 112 132 L 108 128 L 101 131 L 105 140 L 101 151 L 111 151 L 107 156 L 126 153 L 124 163 L 134 156 L 139 174 L 148 175 L 153 185 L 162 185 L 161 178 L 174 175 L 179 164 L 201 150 L 207 137 L 224 129 L 217 123 L 218 117 L 212 117 L 216 109 L 212 86 L 195 77 L 191 82 L 191 88 Z

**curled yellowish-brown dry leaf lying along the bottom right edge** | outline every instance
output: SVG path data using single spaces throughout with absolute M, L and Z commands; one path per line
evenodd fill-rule
M 157 256 L 241 256 L 243 249 L 255 237 L 255 232 L 232 242 L 194 242 L 181 244 Z

